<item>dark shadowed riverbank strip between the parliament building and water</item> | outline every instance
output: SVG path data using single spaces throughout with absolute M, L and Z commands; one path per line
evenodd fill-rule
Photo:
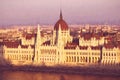
M 108 69 L 100 67 L 0 66 L 0 71 L 30 71 L 120 77 L 120 69 Z

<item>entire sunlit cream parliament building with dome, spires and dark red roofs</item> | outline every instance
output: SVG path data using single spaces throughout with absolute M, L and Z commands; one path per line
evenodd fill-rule
M 43 39 L 38 25 L 36 35 L 24 35 L 19 41 L 3 41 L 0 57 L 14 65 L 117 65 L 120 46 L 110 45 L 101 33 L 80 33 L 79 43 L 73 41 L 60 12 L 51 40 Z

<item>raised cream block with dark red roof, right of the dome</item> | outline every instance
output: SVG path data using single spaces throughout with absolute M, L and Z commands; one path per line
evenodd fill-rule
M 107 43 L 102 33 L 81 33 L 79 46 L 99 46 Z

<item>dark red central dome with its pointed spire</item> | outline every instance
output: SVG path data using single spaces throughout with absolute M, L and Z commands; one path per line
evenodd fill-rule
M 54 26 L 54 30 L 58 31 L 59 30 L 59 25 L 61 25 L 61 30 L 66 31 L 68 30 L 68 25 L 67 23 L 63 20 L 62 18 L 62 13 L 60 12 L 60 19 L 56 22 Z

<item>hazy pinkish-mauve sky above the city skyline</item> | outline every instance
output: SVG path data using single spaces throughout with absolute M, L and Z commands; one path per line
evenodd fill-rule
M 0 25 L 120 23 L 120 0 L 0 0 Z

